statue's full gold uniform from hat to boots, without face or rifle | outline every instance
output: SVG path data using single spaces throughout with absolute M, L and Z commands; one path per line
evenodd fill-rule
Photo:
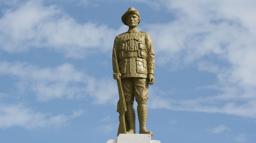
M 134 11 L 137 12 L 135 9 L 129 9 L 125 14 L 129 14 L 129 12 L 133 13 Z M 138 12 L 136 14 L 139 15 Z M 126 15 L 124 15 L 122 16 L 122 21 L 127 25 L 125 22 Z M 135 133 L 135 111 L 133 108 L 135 97 L 138 103 L 137 111 L 140 122 L 140 133 L 150 133 L 153 135 L 151 131 L 146 130 L 148 74 L 154 75 L 155 72 L 155 54 L 151 36 L 148 33 L 140 32 L 137 27 L 131 28 L 127 32 L 116 36 L 114 48 L 126 101 L 127 111 L 125 116 L 128 122 L 126 128 L 127 131 L 133 129 L 133 131 L 126 133 Z M 115 73 L 114 66 L 113 71 Z M 141 131 L 143 128 L 144 131 Z

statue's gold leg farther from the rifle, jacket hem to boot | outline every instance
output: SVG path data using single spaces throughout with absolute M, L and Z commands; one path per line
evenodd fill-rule
M 148 79 L 137 78 L 135 83 L 135 98 L 138 103 L 137 112 L 140 124 L 140 134 L 151 134 L 153 136 L 152 131 L 148 131 L 146 128 L 147 123 L 147 101 L 148 101 Z

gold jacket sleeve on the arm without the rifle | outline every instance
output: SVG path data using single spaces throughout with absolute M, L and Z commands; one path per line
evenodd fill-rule
M 145 43 L 147 47 L 147 69 L 148 69 L 148 74 L 153 74 L 155 73 L 155 54 L 154 54 L 154 47 L 152 43 L 152 39 L 150 34 L 145 35 Z

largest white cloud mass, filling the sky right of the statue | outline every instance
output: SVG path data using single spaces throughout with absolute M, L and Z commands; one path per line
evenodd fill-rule
M 137 1 L 158 2 L 176 16 L 167 23 L 141 25 L 152 35 L 158 64 L 172 70 L 195 64 L 216 75 L 216 84 L 204 88 L 220 91 L 188 100 L 157 96 L 151 108 L 256 118 L 256 17 L 250 16 L 255 1 Z

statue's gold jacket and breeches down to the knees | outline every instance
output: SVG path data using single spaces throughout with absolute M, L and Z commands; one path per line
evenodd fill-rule
M 136 98 L 137 95 L 139 97 L 136 101 L 146 102 L 148 100 L 148 74 L 154 75 L 155 72 L 155 54 L 151 36 L 140 32 L 137 28 L 129 29 L 128 32 L 116 36 L 114 48 L 118 57 L 126 104 L 133 104 L 132 98 L 134 96 Z M 113 70 L 115 71 L 114 67 Z M 132 81 L 134 78 L 139 81 L 134 83 Z M 139 86 L 133 87 L 136 93 L 131 93 L 132 83 L 133 85 L 140 83 Z M 138 87 L 140 88 L 137 89 Z

